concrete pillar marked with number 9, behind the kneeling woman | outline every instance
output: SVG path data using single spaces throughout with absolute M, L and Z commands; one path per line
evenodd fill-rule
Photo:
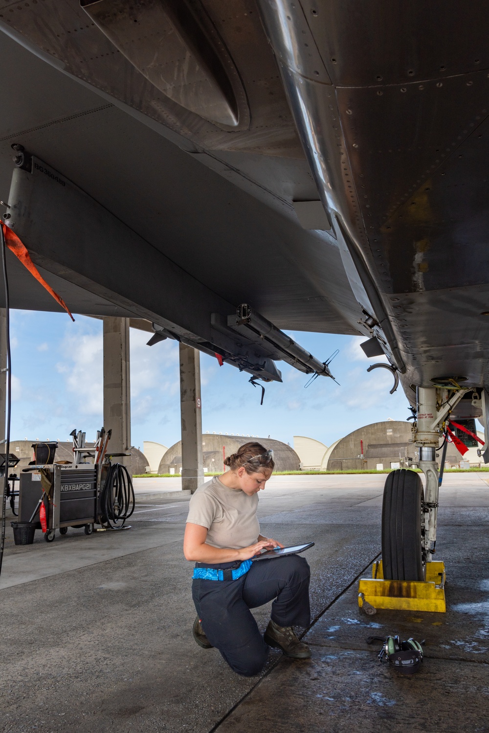
M 192 493 L 204 483 L 202 460 L 200 353 L 180 344 L 180 410 L 182 417 L 182 489 Z

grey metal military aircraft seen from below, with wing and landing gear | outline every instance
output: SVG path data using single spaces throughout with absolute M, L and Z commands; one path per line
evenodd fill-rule
M 435 548 L 449 416 L 485 422 L 488 22 L 480 0 L 0 2 L 7 225 L 72 312 L 252 378 L 332 376 L 281 329 L 364 335 L 426 476 L 384 505 L 401 580 Z M 14 307 L 58 307 L 9 268 Z

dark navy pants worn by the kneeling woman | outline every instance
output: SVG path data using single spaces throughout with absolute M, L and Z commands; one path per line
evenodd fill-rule
M 229 568 L 225 562 L 196 567 Z M 192 583 L 192 597 L 206 637 L 219 649 L 238 674 L 251 677 L 264 667 L 269 647 L 265 644 L 250 608 L 274 599 L 272 621 L 279 626 L 308 626 L 310 569 L 305 558 L 288 555 L 253 562 L 237 581 Z

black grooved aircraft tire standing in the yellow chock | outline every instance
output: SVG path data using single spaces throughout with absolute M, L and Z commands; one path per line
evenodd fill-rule
M 382 501 L 382 569 L 387 580 L 425 580 L 424 501 L 419 474 L 406 468 L 390 472 Z

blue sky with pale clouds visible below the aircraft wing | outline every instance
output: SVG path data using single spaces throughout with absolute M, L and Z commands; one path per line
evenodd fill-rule
M 406 420 L 408 402 L 401 388 L 389 394 L 385 369 L 367 374 L 376 359 L 365 358 L 362 337 L 289 332 L 324 361 L 339 349 L 330 368 L 340 386 L 318 377 L 304 388 L 307 375 L 277 362 L 283 383 L 261 390 L 245 372 L 201 354 L 204 432 L 258 435 L 293 443 L 307 435 L 329 446 L 371 422 Z M 130 332 L 132 444 L 171 446 L 180 438 L 178 344 L 146 346 L 149 334 Z M 102 322 L 66 314 L 11 312 L 12 439 L 70 440 L 73 428 L 93 440 L 102 425 Z M 110 426 L 105 426 L 110 427 Z

